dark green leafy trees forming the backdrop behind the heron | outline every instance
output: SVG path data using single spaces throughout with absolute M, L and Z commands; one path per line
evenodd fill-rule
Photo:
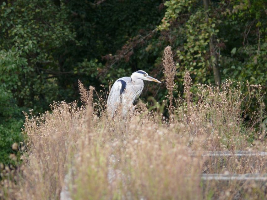
M 107 80 L 142 69 L 164 81 L 161 57 L 167 45 L 181 91 L 185 69 L 195 83 L 231 78 L 267 90 L 264 0 L 0 3 L 0 162 L 5 164 L 10 153 L 18 154 L 11 145 L 22 141 L 22 111 L 37 115 L 53 101 L 78 99 L 77 79 L 108 88 Z M 161 101 L 166 94 L 164 84 L 151 84 L 142 97 Z

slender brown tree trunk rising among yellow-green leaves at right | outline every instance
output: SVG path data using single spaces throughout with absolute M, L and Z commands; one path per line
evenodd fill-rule
M 203 4 L 204 4 L 204 10 L 206 13 L 206 22 L 209 25 L 209 14 L 208 14 L 209 0 L 203 0 Z M 218 57 L 217 53 L 215 52 L 213 35 L 210 36 L 210 44 L 209 45 L 210 45 L 210 61 L 212 64 L 215 84 L 220 86 L 221 85 L 221 73 L 220 73 L 220 68 L 219 68 L 219 57 Z

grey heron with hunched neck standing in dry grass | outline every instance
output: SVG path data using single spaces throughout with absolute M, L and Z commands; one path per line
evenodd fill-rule
M 135 71 L 131 77 L 125 76 L 114 82 L 107 99 L 107 110 L 110 117 L 113 117 L 117 108 L 122 109 L 123 117 L 127 115 L 144 88 L 143 80 L 161 83 L 142 70 Z

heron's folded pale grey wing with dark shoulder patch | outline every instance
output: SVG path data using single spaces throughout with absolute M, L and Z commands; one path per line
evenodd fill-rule
M 112 117 L 122 102 L 122 94 L 126 88 L 128 78 L 123 77 L 114 82 L 107 99 L 107 108 L 110 116 Z

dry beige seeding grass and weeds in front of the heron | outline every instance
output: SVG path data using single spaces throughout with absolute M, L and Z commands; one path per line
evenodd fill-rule
M 266 150 L 264 129 L 256 129 L 264 114 L 260 86 L 247 86 L 247 95 L 240 87 L 232 81 L 222 88 L 198 85 L 193 95 L 199 101 L 175 98 L 167 120 L 144 103 L 127 119 L 107 120 L 102 96 L 94 108 L 61 102 L 41 117 L 26 114 L 28 149 L 18 169 L 2 171 L 1 197 L 59 199 L 68 187 L 72 199 L 264 199 L 262 182 L 202 181 L 201 174 L 267 173 L 266 157 L 191 155 L 192 150 Z M 245 124 L 242 108 L 253 98 L 260 109 Z M 251 134 L 257 135 L 253 143 Z

